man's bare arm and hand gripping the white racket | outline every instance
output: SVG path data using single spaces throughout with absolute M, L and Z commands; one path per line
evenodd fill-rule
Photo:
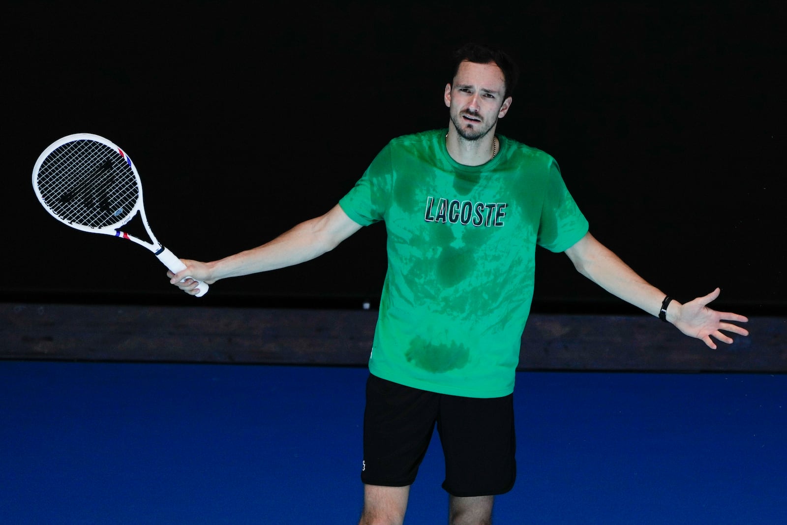
M 333 250 L 359 229 L 360 224 L 350 219 L 339 205 L 335 205 L 325 215 L 306 220 L 262 246 L 235 253 L 219 261 L 182 259 L 186 268 L 176 274 L 167 272 L 167 275 L 170 283 L 187 294 L 195 295 L 199 290 L 194 279 L 212 284 L 227 277 L 267 272 L 310 261 Z M 181 282 L 186 276 L 194 279 Z

